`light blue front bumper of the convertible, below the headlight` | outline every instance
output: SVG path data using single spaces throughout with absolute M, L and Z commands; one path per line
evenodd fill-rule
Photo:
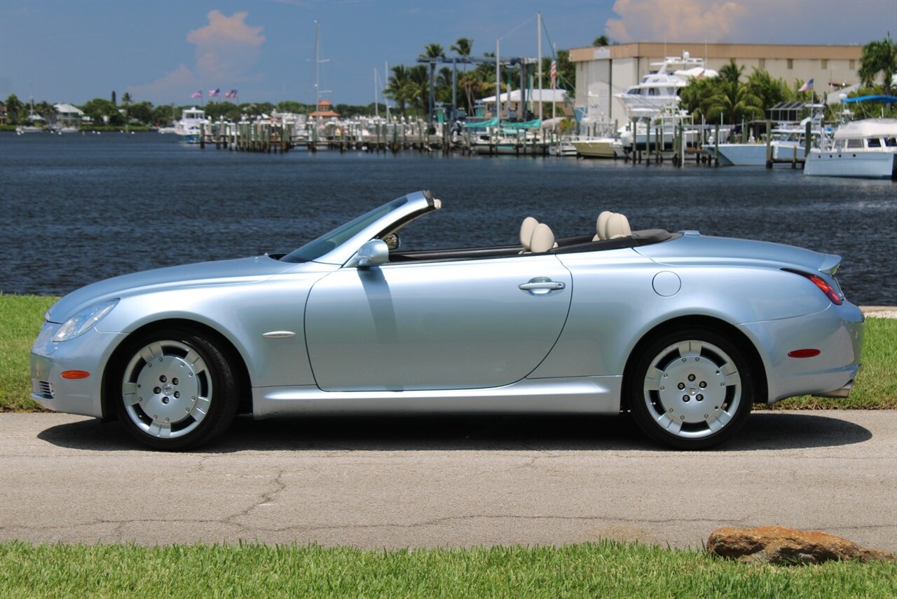
M 75 339 L 54 343 L 59 329 L 45 322 L 31 348 L 31 399 L 47 410 L 103 418 L 103 371 L 123 333 L 91 329 Z M 83 370 L 90 376 L 65 379 L 67 370 Z

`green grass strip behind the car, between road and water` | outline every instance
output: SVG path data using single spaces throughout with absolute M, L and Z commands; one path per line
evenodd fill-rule
M 39 411 L 29 398 L 29 350 L 56 297 L 0 294 L 0 411 Z M 897 319 L 866 321 L 863 368 L 846 400 L 808 395 L 775 404 L 787 410 L 897 410 Z

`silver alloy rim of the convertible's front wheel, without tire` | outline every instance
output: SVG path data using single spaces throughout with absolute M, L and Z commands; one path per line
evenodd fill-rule
M 212 376 L 195 349 L 181 341 L 153 341 L 128 362 L 121 392 L 136 427 L 176 438 L 194 431 L 208 414 Z

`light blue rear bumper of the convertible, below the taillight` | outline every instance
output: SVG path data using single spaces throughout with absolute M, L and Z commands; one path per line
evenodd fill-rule
M 754 340 L 766 368 L 769 403 L 796 395 L 847 397 L 861 365 L 863 313 L 854 304 L 831 304 L 819 313 L 739 328 Z M 815 357 L 788 357 L 796 349 Z

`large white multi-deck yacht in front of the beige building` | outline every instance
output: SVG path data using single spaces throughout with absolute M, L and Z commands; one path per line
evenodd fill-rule
M 666 57 L 651 66 L 657 66 L 657 72 L 643 76 L 639 84 L 625 92 L 614 94 L 623 101 L 630 119 L 658 117 L 664 106 L 679 105 L 679 93 L 692 79 L 719 75 L 705 68 L 703 58 L 692 58 L 688 52 L 683 52 L 681 57 Z

